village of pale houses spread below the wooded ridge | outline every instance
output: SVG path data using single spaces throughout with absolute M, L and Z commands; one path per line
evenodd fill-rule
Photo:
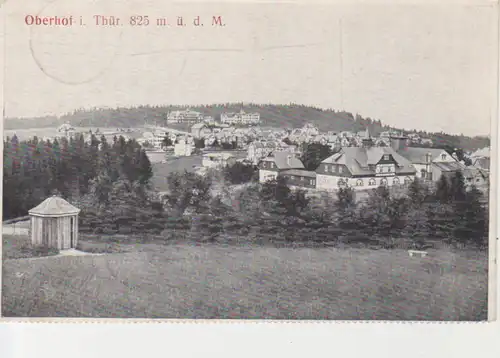
M 121 135 L 127 140 L 130 131 L 94 134 Z M 58 132 L 71 137 L 76 130 L 63 124 Z M 203 173 L 241 162 L 258 169 L 261 183 L 283 176 L 292 188 L 309 191 L 404 186 L 414 178 L 432 183 L 457 171 L 464 174 L 468 187 L 486 190 L 488 185 L 489 148 L 459 155 L 416 133 L 384 131 L 373 135 L 368 129 L 321 132 L 310 123 L 302 128 L 266 128 L 261 126 L 258 112 L 227 112 L 215 120 L 188 108 L 171 111 L 163 125 L 148 126 L 134 134 L 152 163 L 201 156 L 201 163 L 189 169 Z M 311 167 L 301 161 L 306 148 L 331 155 Z

